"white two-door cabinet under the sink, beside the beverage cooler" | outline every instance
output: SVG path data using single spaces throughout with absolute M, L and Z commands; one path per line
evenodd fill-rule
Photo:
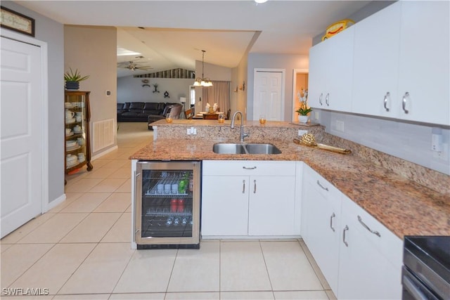
M 283 236 L 295 231 L 295 164 L 204 161 L 203 236 Z

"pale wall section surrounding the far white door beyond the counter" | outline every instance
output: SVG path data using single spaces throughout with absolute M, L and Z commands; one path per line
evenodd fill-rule
M 248 82 L 245 83 L 247 89 L 247 119 L 253 117 L 253 84 L 255 68 L 285 69 L 285 111 L 284 121 L 292 121 L 293 109 L 293 71 L 294 69 L 308 69 L 308 56 L 290 54 L 262 54 L 250 53 L 248 55 Z

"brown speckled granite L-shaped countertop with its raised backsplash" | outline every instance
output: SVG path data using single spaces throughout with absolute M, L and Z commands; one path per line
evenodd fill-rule
M 366 152 L 364 146 L 345 143 L 341 138 L 330 136 L 322 126 L 299 126 L 289 122 L 267 122 L 264 125 L 257 121 L 244 123 L 245 132 L 250 133 L 246 142 L 273 143 L 282 153 L 217 154 L 212 152 L 214 143 L 239 140 L 239 129 L 230 129 L 229 121 L 219 124 L 213 120 L 174 120 L 167 124 L 161 120 L 154 123 L 156 140 L 130 159 L 302 161 L 401 239 L 404 235 L 450 235 L 450 192 L 446 187 L 448 176 L 442 175 L 442 187 L 439 183 L 436 187 L 441 190 L 446 187 L 446 193 L 437 193 L 361 158 L 358 152 Z M 197 134 L 186 134 L 186 130 L 191 127 L 197 130 Z M 342 148 L 350 148 L 352 144 L 352 154 L 341 155 L 297 145 L 293 143 L 293 138 L 297 138 L 298 129 L 313 133 L 321 143 Z

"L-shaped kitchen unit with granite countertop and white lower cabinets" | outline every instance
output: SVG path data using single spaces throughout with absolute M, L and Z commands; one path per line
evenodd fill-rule
M 139 161 L 202 161 L 203 239 L 301 236 L 338 299 L 399 299 L 404 236 L 450 235 L 449 176 L 331 136 L 323 126 L 244 122 L 245 143 L 281 150 L 271 155 L 215 153 L 215 143 L 240 139 L 229 121 L 162 120 L 153 128 L 155 140 L 130 157 L 131 169 Z M 352 153 L 297 145 L 299 129 Z M 355 278 L 364 280 L 358 289 Z

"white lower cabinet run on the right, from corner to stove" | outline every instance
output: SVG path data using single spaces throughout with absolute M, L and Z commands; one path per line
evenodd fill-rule
M 403 243 L 304 165 L 302 237 L 338 299 L 400 299 Z

